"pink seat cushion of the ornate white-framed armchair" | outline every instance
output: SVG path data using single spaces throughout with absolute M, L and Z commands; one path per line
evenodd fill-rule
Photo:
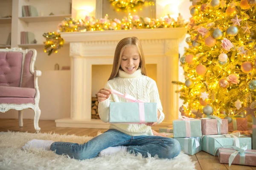
M 10 87 L 10 86 L 0 86 L 0 97 L 34 98 L 35 88 L 18 88 L 18 87 Z

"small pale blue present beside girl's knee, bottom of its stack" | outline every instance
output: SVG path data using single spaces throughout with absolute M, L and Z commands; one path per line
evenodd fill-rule
M 187 155 L 194 155 L 202 150 L 201 137 L 174 138 L 180 142 L 181 150 Z

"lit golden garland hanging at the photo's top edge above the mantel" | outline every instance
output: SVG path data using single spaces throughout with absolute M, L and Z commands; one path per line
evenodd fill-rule
M 118 8 L 117 11 L 119 11 L 119 9 L 135 10 L 134 8 L 137 6 L 142 6 L 145 4 L 145 0 L 109 0 L 109 2 L 111 2 L 114 7 Z M 154 6 L 154 2 L 148 2 L 148 5 Z

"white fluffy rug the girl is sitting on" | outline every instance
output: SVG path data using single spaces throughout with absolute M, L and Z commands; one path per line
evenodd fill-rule
M 0 132 L 0 170 L 194 170 L 195 162 L 184 153 L 174 159 L 142 158 L 128 153 L 116 153 L 79 161 L 52 151 L 21 150 L 31 139 L 84 143 L 88 136 L 48 133 Z

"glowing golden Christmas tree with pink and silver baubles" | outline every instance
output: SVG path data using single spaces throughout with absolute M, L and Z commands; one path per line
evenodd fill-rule
M 254 115 L 256 0 L 193 0 L 190 14 L 189 48 L 180 57 L 186 81 L 173 82 L 180 112 Z

